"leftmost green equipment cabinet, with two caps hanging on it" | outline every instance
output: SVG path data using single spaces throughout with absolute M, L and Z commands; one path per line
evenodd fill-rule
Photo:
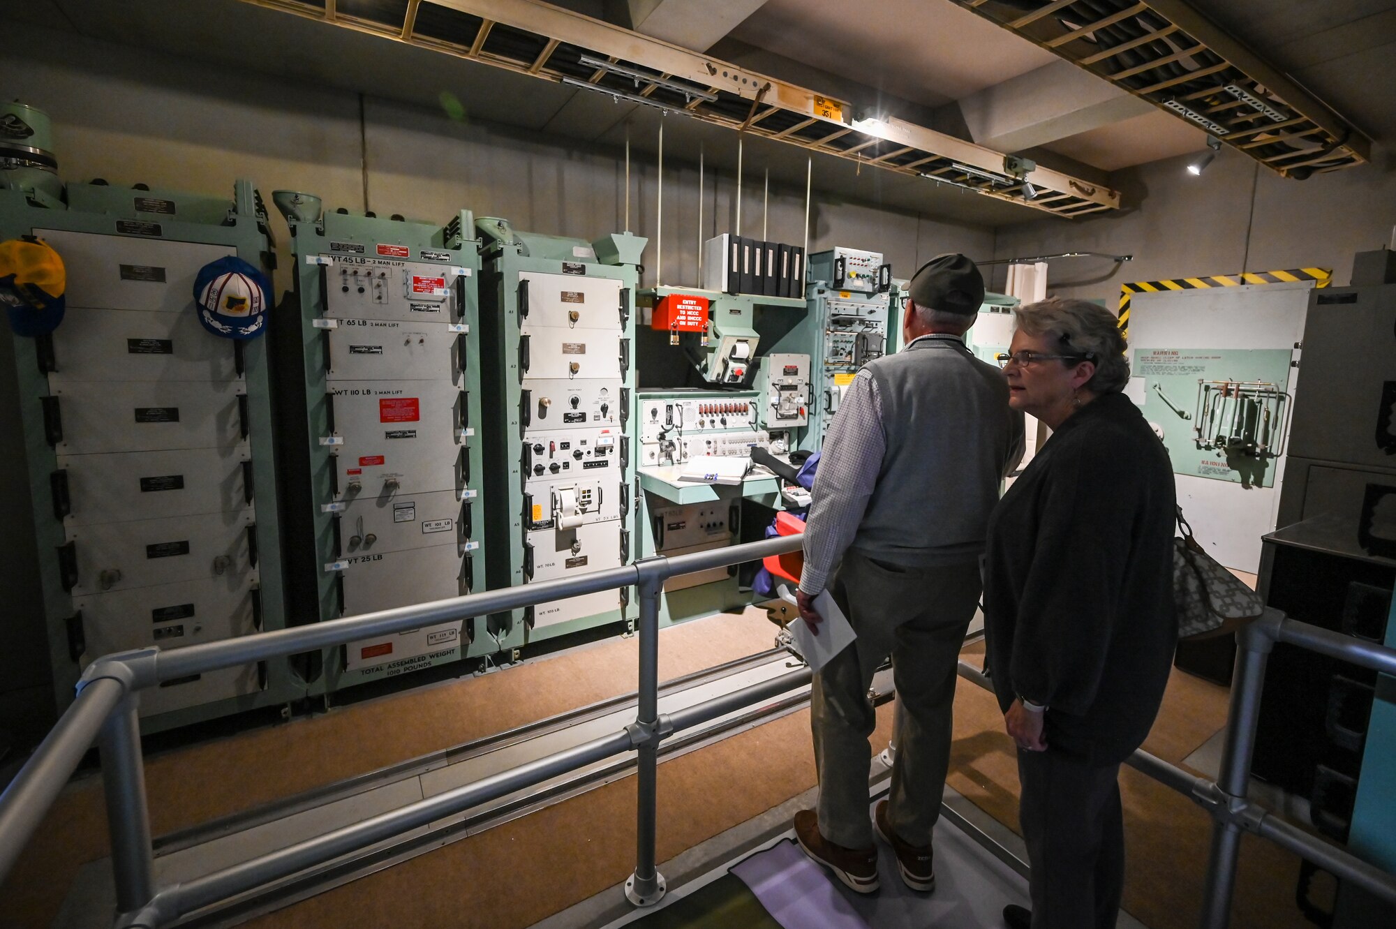
M 233 199 L 68 184 L 66 206 L 0 190 L 0 237 L 38 236 L 67 269 L 61 325 L 14 339 L 60 711 L 102 654 L 286 624 L 271 338 L 209 333 L 193 293 L 211 261 L 269 262 L 264 220 L 244 180 Z M 141 693 L 141 728 L 303 692 L 282 658 L 168 681 Z

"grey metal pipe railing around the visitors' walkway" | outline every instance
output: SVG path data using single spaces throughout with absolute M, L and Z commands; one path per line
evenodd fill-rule
M 166 926 L 201 908 L 341 855 L 364 849 L 433 820 L 461 813 L 614 755 L 635 750 L 638 753 L 637 852 L 635 870 L 625 882 L 625 896 L 635 905 L 655 904 L 664 896 L 664 879 L 655 862 L 659 743 L 674 732 L 804 686 L 811 678 L 810 670 L 803 668 L 673 714 L 659 714 L 658 635 L 659 594 L 663 583 L 677 575 L 790 552 L 800 544 L 799 536 L 768 538 L 691 555 L 651 558 L 579 577 L 491 590 L 172 651 L 144 649 L 98 658 L 82 675 L 73 706 L 0 795 L 0 880 L 8 875 L 94 741 L 99 745 L 102 756 L 117 898 L 116 925 L 142 929 Z M 137 716 L 137 702 L 142 689 L 158 686 L 162 681 L 262 658 L 631 584 L 639 591 L 639 693 L 637 718 L 620 732 L 303 840 L 251 861 L 156 889 Z M 1215 819 L 1212 861 L 1201 915 L 1202 929 L 1224 929 L 1230 922 L 1242 831 L 1268 838 L 1321 865 L 1337 877 L 1350 880 L 1382 900 L 1396 902 L 1396 876 L 1270 816 L 1269 810 L 1247 799 L 1265 661 L 1276 642 L 1287 642 L 1382 674 L 1396 675 L 1396 650 L 1295 622 L 1279 611 L 1268 610 L 1261 621 L 1238 633 L 1240 650 L 1231 685 L 1220 784 L 1191 774 L 1143 750 L 1135 752 L 1129 759 L 1131 766 L 1191 796 Z M 980 686 L 993 689 L 991 682 L 972 665 L 962 663 L 959 672 Z

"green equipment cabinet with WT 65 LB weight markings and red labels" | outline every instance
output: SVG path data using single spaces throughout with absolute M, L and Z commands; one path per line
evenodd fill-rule
M 445 226 L 276 191 L 295 254 L 279 314 L 288 589 L 336 619 L 483 590 L 479 254 Z M 475 621 L 304 657 L 313 692 L 458 661 Z

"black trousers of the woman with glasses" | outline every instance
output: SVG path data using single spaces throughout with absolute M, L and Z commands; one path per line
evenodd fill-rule
M 1018 778 L 1032 929 L 1114 929 L 1125 883 L 1120 764 L 1019 749 Z

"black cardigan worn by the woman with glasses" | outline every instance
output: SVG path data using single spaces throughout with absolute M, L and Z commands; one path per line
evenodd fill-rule
M 1121 762 L 1149 734 L 1168 682 L 1173 469 L 1121 393 L 1067 418 L 988 522 L 984 625 L 1007 711 L 1048 704 L 1050 748 Z

